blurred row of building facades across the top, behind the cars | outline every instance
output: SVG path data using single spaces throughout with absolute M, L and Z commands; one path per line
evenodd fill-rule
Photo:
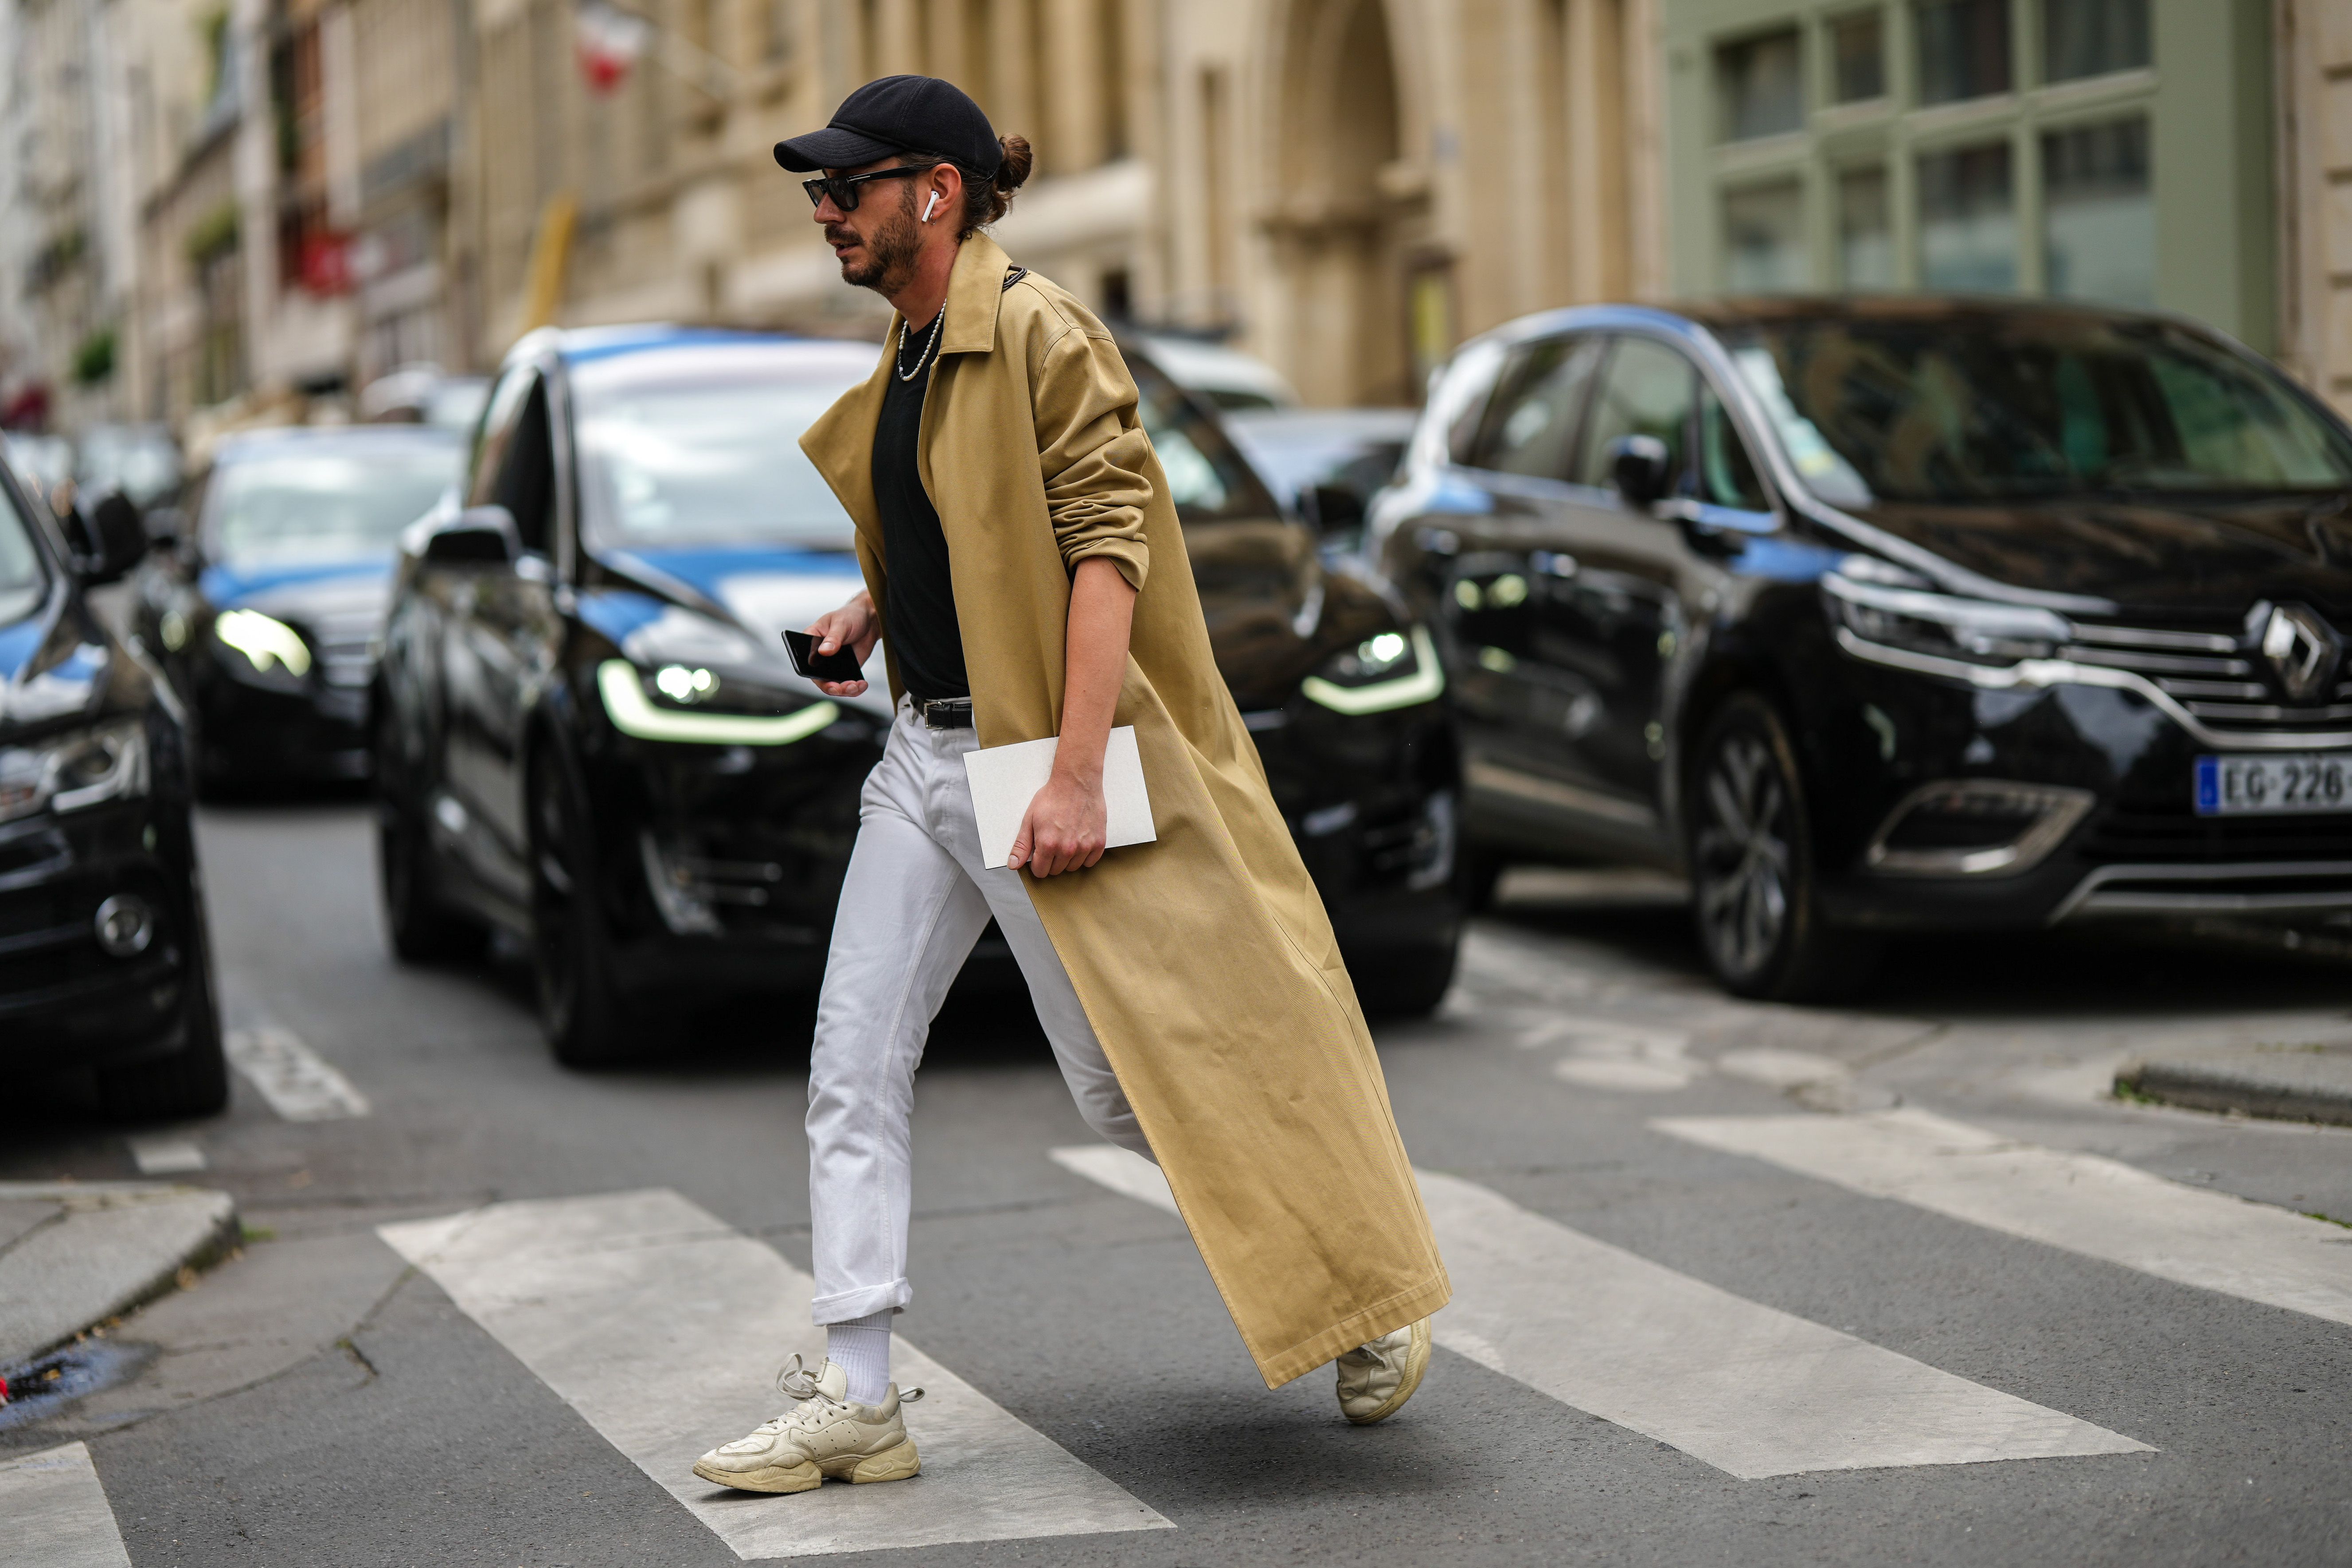
M 0 414 L 358 407 L 527 327 L 873 334 L 769 146 L 962 82 L 1103 315 L 1409 404 L 1512 315 L 1976 289 L 2352 409 L 2352 0 L 0 0 Z

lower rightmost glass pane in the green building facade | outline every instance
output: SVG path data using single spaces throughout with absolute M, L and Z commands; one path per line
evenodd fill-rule
M 2157 303 L 2147 120 L 2042 136 L 2042 214 L 2051 294 L 2110 306 Z

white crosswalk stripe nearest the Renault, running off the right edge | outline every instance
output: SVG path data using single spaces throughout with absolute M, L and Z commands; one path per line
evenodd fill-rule
M 1910 1107 L 1860 1117 L 1665 1117 L 1651 1126 L 2157 1279 L 2352 1324 L 2352 1246 L 2343 1229 L 2117 1159 L 2044 1150 Z

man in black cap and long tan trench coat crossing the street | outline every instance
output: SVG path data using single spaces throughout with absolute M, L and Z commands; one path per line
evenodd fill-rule
M 802 447 L 866 571 L 809 630 L 861 663 L 882 639 L 898 712 L 809 1056 L 826 1361 L 795 1356 L 795 1408 L 694 1474 L 793 1493 L 920 1469 L 889 1382 L 915 1065 L 990 917 L 1087 1124 L 1167 1173 L 1265 1385 L 1336 1359 L 1345 1418 L 1383 1420 L 1421 1385 L 1444 1265 L 1331 924 L 1211 661 L 1136 386 L 1084 306 L 981 233 L 1028 143 L 950 82 L 898 75 L 776 162 L 821 174 L 804 183 L 842 280 L 896 308 L 873 378 Z M 1117 724 L 1157 842 L 1105 856 Z M 1047 736 L 1021 870 L 988 867 L 964 755 Z

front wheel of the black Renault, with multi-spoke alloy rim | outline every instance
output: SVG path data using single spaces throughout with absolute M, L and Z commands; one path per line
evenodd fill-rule
M 1743 691 L 1708 722 L 1684 818 L 1698 947 L 1724 990 L 1816 1001 L 1870 978 L 1877 943 L 1820 914 L 1804 778 L 1771 703 Z

